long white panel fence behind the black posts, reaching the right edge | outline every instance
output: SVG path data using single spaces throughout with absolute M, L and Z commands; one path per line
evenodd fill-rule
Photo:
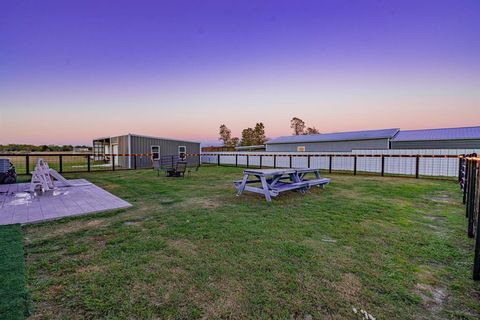
M 334 171 L 382 172 L 394 175 L 455 177 L 458 175 L 461 154 L 480 153 L 480 149 L 404 149 L 404 150 L 354 150 L 352 152 L 209 152 L 202 154 L 203 164 L 239 167 L 319 168 Z M 346 155 L 346 156 L 345 156 Z M 310 161 L 309 161 L 310 156 Z M 433 156 L 433 157 L 432 157 Z

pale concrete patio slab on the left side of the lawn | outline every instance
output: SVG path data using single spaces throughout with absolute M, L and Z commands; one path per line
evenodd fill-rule
M 0 225 L 33 223 L 130 207 L 128 202 L 84 179 L 69 180 L 44 195 L 28 191 L 29 183 L 0 185 Z

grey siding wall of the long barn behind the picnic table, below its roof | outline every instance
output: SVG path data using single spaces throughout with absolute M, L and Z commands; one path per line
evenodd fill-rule
M 388 149 L 388 139 L 328 141 L 315 143 L 267 144 L 267 152 L 296 152 L 304 146 L 306 152 L 350 152 L 355 149 Z

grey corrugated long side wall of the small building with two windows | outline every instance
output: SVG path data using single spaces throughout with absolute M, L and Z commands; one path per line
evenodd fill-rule
M 168 140 L 168 139 L 158 139 L 151 137 L 142 137 L 142 136 L 131 136 L 132 138 L 132 153 L 150 153 L 151 146 L 160 146 L 160 155 L 161 156 L 170 156 L 178 155 L 178 147 L 186 146 L 187 153 L 200 153 L 200 143 L 196 142 L 187 142 L 187 141 L 177 141 L 177 140 Z M 128 143 L 128 139 L 127 139 Z M 198 157 L 187 158 L 189 165 L 196 165 L 198 163 Z M 149 168 L 152 167 L 152 161 L 150 158 L 141 157 L 137 158 L 137 167 L 138 168 Z

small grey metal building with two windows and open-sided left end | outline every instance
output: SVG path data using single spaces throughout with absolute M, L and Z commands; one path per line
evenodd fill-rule
M 200 154 L 200 143 L 138 134 L 102 137 L 93 140 L 95 160 L 114 161 L 122 168 L 151 168 L 161 157 Z M 200 157 L 186 157 L 188 165 L 198 165 Z

